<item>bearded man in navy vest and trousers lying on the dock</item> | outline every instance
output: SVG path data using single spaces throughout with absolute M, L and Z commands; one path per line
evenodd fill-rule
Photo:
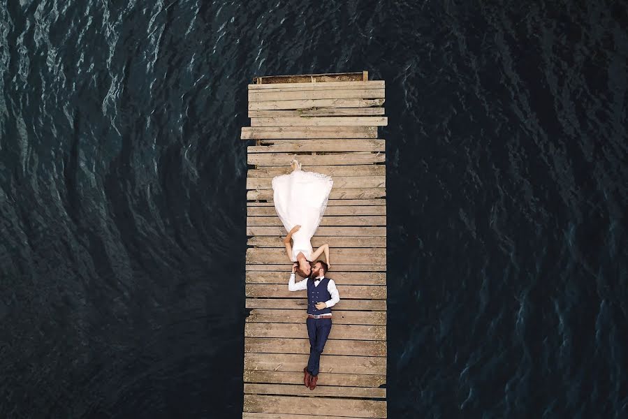
M 309 337 L 309 360 L 307 367 L 303 369 L 303 383 L 309 390 L 316 388 L 319 379 L 319 363 L 325 342 L 331 331 L 331 309 L 340 301 L 340 295 L 333 279 L 325 277 L 327 263 L 317 260 L 312 266 L 309 277 L 295 284 L 294 272 L 296 265 L 292 266 L 292 274 L 288 282 L 289 291 L 307 290 L 307 335 Z

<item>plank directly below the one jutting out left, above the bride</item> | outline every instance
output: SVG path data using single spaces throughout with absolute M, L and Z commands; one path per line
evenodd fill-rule
M 248 153 L 291 152 L 384 152 L 385 140 L 259 140 L 259 145 L 249 145 Z

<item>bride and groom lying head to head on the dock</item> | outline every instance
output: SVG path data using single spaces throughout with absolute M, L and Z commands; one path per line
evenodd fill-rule
M 296 160 L 291 166 L 293 171 L 289 175 L 272 179 L 273 200 L 277 215 L 288 232 L 284 246 L 293 262 L 288 289 L 307 290 L 305 324 L 309 337 L 309 360 L 303 368 L 303 383 L 309 390 L 314 390 L 319 378 L 321 353 L 331 331 L 331 307 L 339 302 L 340 296 L 333 279 L 326 277 L 331 267 L 329 244 L 314 250 L 310 240 L 321 223 L 334 182 L 330 176 L 301 170 Z M 326 261 L 317 260 L 323 253 Z M 295 272 L 304 279 L 295 283 Z

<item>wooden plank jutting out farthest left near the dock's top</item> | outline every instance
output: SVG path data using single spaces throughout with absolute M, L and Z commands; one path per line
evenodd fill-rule
M 240 138 L 377 138 L 377 126 L 243 126 Z

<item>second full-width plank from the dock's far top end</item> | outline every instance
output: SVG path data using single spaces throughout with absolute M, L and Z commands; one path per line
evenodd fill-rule
M 307 101 L 317 99 L 380 99 L 386 89 L 281 89 L 249 91 L 249 103 L 269 101 Z

